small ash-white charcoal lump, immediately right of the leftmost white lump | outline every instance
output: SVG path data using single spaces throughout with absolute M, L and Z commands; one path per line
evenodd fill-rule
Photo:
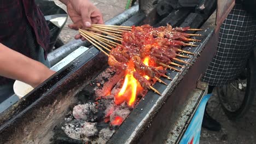
M 84 122 L 84 125 L 81 129 L 81 137 L 92 137 L 92 136 L 97 136 L 98 135 L 98 130 L 96 128 L 97 123 L 89 123 L 89 122 Z

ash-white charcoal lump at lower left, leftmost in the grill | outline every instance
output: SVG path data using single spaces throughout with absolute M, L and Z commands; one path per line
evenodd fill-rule
M 71 137 L 72 139 L 75 140 L 80 140 L 80 133 L 81 133 L 81 128 L 83 127 L 83 121 L 81 120 L 74 120 L 70 123 L 66 123 L 63 127 L 62 130 L 66 135 Z

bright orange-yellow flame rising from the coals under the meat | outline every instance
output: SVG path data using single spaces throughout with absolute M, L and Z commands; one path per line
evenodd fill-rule
M 142 61 L 144 64 L 149 65 L 149 57 L 146 57 Z M 115 95 L 115 104 L 119 105 L 126 101 L 127 105 L 133 106 L 136 100 L 137 91 L 143 89 L 139 82 L 133 77 L 133 71 L 135 71 L 132 61 L 127 63 L 127 70 L 123 87 L 117 95 Z M 133 71 L 131 71 L 133 69 Z M 147 80 L 150 79 L 147 75 L 144 76 Z

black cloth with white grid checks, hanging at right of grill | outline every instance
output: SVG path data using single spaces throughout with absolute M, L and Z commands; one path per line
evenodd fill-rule
M 217 53 L 202 81 L 211 86 L 223 86 L 234 80 L 245 68 L 255 41 L 256 19 L 236 3 L 220 27 Z

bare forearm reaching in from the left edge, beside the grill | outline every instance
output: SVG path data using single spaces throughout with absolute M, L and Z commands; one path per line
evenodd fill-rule
M 34 61 L 0 43 L 1 76 L 36 87 L 54 73 L 55 71 L 48 69 L 42 63 Z

